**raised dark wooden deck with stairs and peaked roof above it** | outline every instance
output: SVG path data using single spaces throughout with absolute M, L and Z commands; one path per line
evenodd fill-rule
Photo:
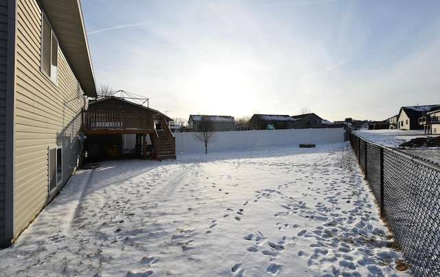
M 148 99 L 109 96 L 89 101 L 83 111 L 83 132 L 91 160 L 127 154 L 159 160 L 176 158 L 175 138 L 162 112 L 142 104 Z M 153 155 L 154 153 L 154 155 Z

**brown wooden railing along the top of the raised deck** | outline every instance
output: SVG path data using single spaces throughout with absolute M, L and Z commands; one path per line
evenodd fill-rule
M 153 115 L 147 112 L 83 110 L 83 130 L 153 129 Z

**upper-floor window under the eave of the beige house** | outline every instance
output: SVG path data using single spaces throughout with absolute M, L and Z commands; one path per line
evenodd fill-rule
M 45 16 L 41 34 L 41 70 L 54 82 L 58 73 L 58 40 Z

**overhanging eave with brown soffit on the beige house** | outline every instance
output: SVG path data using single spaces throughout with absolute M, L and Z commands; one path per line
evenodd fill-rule
M 87 96 L 96 97 L 95 75 L 91 66 L 80 1 L 40 0 L 40 2 L 81 88 Z

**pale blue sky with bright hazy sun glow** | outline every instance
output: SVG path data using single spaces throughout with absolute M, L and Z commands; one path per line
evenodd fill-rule
M 83 0 L 96 84 L 173 119 L 440 104 L 437 0 Z

